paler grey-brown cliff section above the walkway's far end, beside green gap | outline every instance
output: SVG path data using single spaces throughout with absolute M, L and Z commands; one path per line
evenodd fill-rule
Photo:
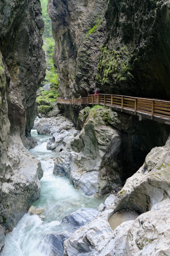
M 106 3 L 106 0 L 49 1 L 56 42 L 53 60 L 62 96 L 78 97 L 94 92 L 97 60 L 105 34 Z

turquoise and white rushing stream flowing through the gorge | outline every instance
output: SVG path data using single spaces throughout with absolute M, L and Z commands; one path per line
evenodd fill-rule
M 6 235 L 3 256 L 49 256 L 51 246 L 48 239 L 50 233 L 69 232 L 69 226 L 61 224 L 64 216 L 77 209 L 97 208 L 104 198 L 89 197 L 81 190 L 75 189 L 67 177 L 53 175 L 53 157 L 55 152 L 46 148 L 51 135 L 38 135 L 32 130 L 32 136 L 38 146 L 30 149 L 30 153 L 41 161 L 44 176 L 41 179 L 41 198 L 33 203 L 36 208 L 43 208 L 45 218 L 38 215 L 25 214 L 13 231 Z

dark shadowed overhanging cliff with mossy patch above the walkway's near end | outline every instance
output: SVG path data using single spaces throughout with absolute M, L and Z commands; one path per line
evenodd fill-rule
M 110 0 L 97 85 L 106 93 L 170 98 L 170 3 Z

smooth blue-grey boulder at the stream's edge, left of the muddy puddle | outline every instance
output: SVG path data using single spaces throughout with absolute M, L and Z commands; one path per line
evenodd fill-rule
M 93 208 L 84 208 L 67 215 L 63 218 L 62 222 L 68 223 L 72 227 L 79 228 L 94 219 L 98 214 L 99 211 Z

